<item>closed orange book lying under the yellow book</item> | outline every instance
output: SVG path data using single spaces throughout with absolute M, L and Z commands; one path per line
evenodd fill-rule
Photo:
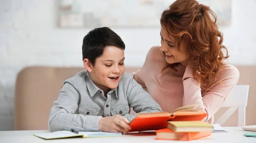
M 171 129 L 156 130 L 156 140 L 196 140 L 202 137 L 207 137 L 212 134 L 207 132 L 173 132 Z

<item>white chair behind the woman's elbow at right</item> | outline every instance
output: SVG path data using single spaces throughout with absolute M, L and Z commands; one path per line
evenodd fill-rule
M 221 107 L 229 107 L 226 112 L 215 122 L 222 125 L 238 109 L 238 126 L 245 126 L 245 107 L 249 85 L 236 85 L 227 100 Z

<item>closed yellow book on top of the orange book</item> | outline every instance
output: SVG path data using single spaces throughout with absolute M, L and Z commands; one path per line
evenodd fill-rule
M 204 121 L 168 121 L 167 128 L 174 132 L 213 131 L 213 126 Z

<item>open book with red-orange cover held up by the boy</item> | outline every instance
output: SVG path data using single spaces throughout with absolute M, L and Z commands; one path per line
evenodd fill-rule
M 130 123 L 130 132 L 164 129 L 167 121 L 202 121 L 208 114 L 196 109 L 198 104 L 184 106 L 169 112 L 138 114 Z

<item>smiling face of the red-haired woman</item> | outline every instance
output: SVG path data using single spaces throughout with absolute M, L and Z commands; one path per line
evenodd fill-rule
M 189 55 L 186 53 L 185 48 L 182 47 L 182 44 L 181 47 L 179 47 L 180 50 L 176 50 L 174 37 L 169 36 L 167 31 L 163 28 L 161 28 L 160 36 L 160 50 L 165 54 L 166 62 L 169 64 L 181 63 L 183 66 L 187 66 L 189 64 Z

